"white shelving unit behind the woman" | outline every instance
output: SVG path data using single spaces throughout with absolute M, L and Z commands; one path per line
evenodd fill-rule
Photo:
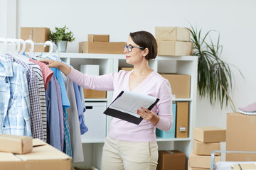
M 100 75 L 110 72 L 118 72 L 119 67 L 132 67 L 126 63 L 124 55 L 111 54 L 87 54 L 87 53 L 60 53 L 63 62 L 72 65 L 75 69 L 80 70 L 80 64 L 98 64 L 100 65 Z M 188 101 L 189 103 L 189 120 L 188 120 L 188 138 L 163 139 L 157 137 L 156 141 L 160 149 L 178 149 L 189 157 L 193 148 L 193 127 L 196 120 L 196 89 L 197 89 L 197 63 L 196 56 L 167 57 L 157 56 L 155 60 L 149 62 L 151 69 L 160 73 L 178 73 L 189 74 L 191 76 L 191 94 L 190 98 L 173 98 L 173 101 Z M 112 91 L 107 91 L 107 98 L 85 98 L 85 102 L 107 102 L 107 106 L 112 102 Z M 110 125 L 111 117 L 106 118 L 106 135 Z M 97 125 L 95 123 L 95 125 Z M 100 154 L 104 139 L 102 140 L 82 140 L 85 147 L 92 147 L 90 159 L 93 166 L 100 167 Z M 97 153 L 94 153 L 97 152 Z M 97 155 L 95 157 L 95 155 Z M 86 157 L 85 157 L 86 159 Z M 86 160 L 85 160 L 86 161 Z

